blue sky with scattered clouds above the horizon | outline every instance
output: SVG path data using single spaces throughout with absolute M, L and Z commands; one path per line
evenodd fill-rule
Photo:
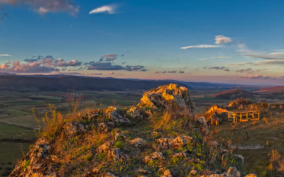
M 0 72 L 284 85 L 283 6 L 0 0 Z

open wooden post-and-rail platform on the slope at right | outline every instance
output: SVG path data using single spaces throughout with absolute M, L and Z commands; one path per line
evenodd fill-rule
M 260 114 L 259 110 L 235 110 L 228 112 L 228 119 L 229 121 L 233 119 L 234 122 L 238 122 L 238 120 L 240 122 L 245 122 L 249 120 L 259 120 Z

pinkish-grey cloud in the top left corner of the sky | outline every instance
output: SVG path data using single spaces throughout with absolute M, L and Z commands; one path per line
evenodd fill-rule
M 48 1 L 38 1 L 38 0 L 1 0 L 0 6 L 9 4 L 11 6 L 21 6 L 29 7 L 33 11 L 45 14 L 45 13 L 55 13 L 55 12 L 67 12 L 73 16 L 77 16 L 79 13 L 79 6 L 76 6 L 72 0 L 48 0 Z

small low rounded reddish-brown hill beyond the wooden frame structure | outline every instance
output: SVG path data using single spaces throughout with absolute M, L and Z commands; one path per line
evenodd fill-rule
M 234 89 L 229 91 L 221 91 L 219 93 L 216 93 L 213 97 L 220 99 L 237 99 L 237 98 L 246 99 L 246 98 L 253 98 L 253 93 L 241 89 Z

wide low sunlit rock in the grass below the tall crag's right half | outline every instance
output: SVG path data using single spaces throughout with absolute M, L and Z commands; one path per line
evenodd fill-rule
M 156 147 L 156 150 L 161 149 L 168 149 L 171 148 L 179 148 L 179 147 L 185 147 L 185 145 L 188 142 L 192 142 L 193 138 L 188 136 L 178 136 L 175 139 L 173 138 L 160 138 L 157 139 L 155 142 L 158 144 L 158 147 Z

